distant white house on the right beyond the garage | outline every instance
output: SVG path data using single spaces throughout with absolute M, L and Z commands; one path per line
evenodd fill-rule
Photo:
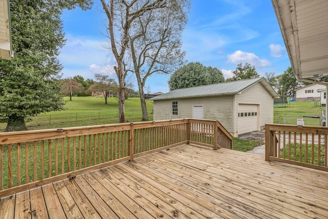
M 295 89 L 296 101 L 320 101 L 320 92 L 318 90 L 325 89 L 324 85 L 311 84 Z

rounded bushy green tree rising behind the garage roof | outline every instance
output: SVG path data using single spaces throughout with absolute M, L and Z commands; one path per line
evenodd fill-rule
M 169 79 L 170 90 L 224 82 L 217 68 L 205 67 L 199 62 L 189 63 L 176 70 Z

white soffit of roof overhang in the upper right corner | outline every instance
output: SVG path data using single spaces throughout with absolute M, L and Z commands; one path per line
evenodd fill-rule
M 272 0 L 294 74 L 328 75 L 328 0 Z

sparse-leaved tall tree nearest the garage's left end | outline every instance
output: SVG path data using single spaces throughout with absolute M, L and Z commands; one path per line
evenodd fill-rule
M 147 2 L 160 1 L 139 0 L 134 10 L 141 10 Z M 183 63 L 181 33 L 187 24 L 189 8 L 189 0 L 168 0 L 131 23 L 129 52 L 138 82 L 143 121 L 148 121 L 144 92 L 147 78 L 155 73 L 173 72 Z

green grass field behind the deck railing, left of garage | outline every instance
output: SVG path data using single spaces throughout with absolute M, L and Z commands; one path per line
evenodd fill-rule
M 91 126 L 118 123 L 118 100 L 115 97 L 69 97 L 64 98 L 65 110 L 53 111 L 30 117 L 26 120 L 29 130 L 65 128 L 75 126 Z M 153 120 L 153 103 L 146 102 L 149 120 Z M 128 98 L 125 102 L 125 116 L 129 122 L 140 122 L 142 111 L 139 98 Z M 0 124 L 0 131 L 6 128 L 5 123 Z

